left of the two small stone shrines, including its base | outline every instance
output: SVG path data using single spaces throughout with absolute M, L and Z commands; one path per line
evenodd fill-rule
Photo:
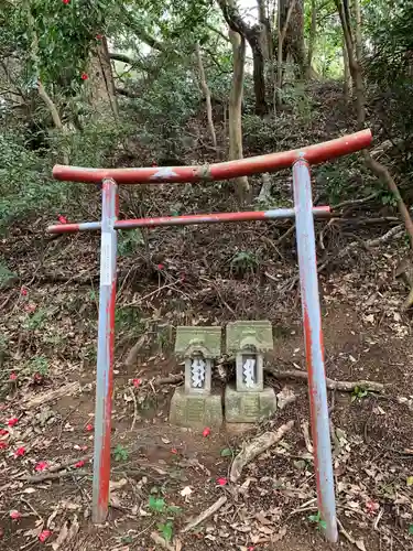
M 177 327 L 175 354 L 184 358 L 185 383 L 172 397 L 170 422 L 188 428 L 221 425 L 221 396 L 211 392 L 213 361 L 221 354 L 221 327 Z

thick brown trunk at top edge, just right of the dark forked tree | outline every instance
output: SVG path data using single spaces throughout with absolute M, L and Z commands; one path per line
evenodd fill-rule
M 290 9 L 291 15 L 290 22 L 287 22 Z M 296 65 L 296 75 L 301 78 L 305 75 L 306 68 L 304 43 L 304 0 L 280 0 L 279 12 L 279 30 L 284 29 L 285 22 L 287 22 L 282 58 L 286 60 L 289 54 L 291 55 L 294 64 Z

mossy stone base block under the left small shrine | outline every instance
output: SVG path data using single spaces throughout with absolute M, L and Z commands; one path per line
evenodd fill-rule
M 218 429 L 222 424 L 221 396 L 188 393 L 178 387 L 171 400 L 170 423 L 193 429 Z

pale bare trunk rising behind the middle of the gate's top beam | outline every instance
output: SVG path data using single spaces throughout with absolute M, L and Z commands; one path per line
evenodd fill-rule
M 232 44 L 233 73 L 231 90 L 229 93 L 229 159 L 242 159 L 242 89 L 243 71 L 246 63 L 246 41 L 239 33 L 229 30 L 229 40 Z M 242 204 L 250 191 L 247 176 L 236 180 L 237 194 Z

